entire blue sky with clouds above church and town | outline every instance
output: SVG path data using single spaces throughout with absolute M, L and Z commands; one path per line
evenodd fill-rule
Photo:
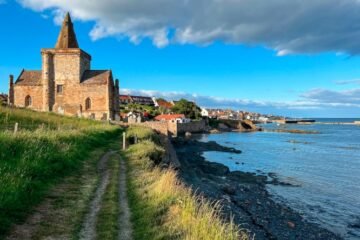
M 0 0 L 0 92 L 41 69 L 67 11 L 121 94 L 360 117 L 359 0 Z

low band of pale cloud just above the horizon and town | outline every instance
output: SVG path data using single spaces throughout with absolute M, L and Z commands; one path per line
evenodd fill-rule
M 195 101 L 199 106 L 206 108 L 231 108 L 272 114 L 324 109 L 336 112 L 339 108 L 360 111 L 360 89 L 348 91 L 313 89 L 303 93 L 299 100 L 291 102 L 253 101 L 247 99 L 202 96 L 185 92 L 161 92 L 155 90 L 121 89 L 120 93 L 124 95 L 161 97 L 168 100 L 185 98 Z

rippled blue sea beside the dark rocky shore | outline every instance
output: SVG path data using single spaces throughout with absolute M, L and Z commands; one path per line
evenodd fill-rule
M 315 124 L 264 124 L 264 129 L 299 129 L 318 134 L 249 132 L 204 134 L 241 154 L 205 152 L 208 161 L 230 170 L 270 176 L 293 186 L 267 185 L 275 201 L 310 222 L 342 236 L 360 239 L 360 119 L 315 119 Z M 338 124 L 341 123 L 341 124 Z

